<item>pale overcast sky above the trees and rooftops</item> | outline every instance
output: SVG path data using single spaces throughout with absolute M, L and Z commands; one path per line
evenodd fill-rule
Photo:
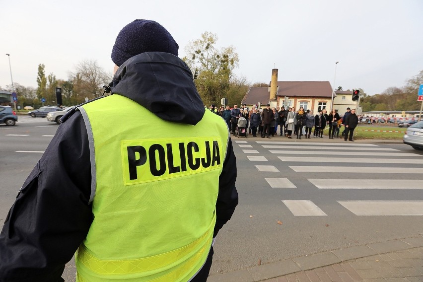
M 163 25 L 179 57 L 205 32 L 216 47 L 232 45 L 237 75 L 250 83 L 329 81 L 373 95 L 401 87 L 423 70 L 423 0 L 0 0 L 0 86 L 37 87 L 45 65 L 67 79 L 82 60 L 113 70 L 119 31 L 134 19 Z M 417 93 L 416 93 L 417 94 Z

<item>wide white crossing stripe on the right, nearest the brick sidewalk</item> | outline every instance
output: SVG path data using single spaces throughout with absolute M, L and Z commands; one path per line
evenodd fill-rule
M 337 201 L 355 215 L 423 215 L 423 201 Z

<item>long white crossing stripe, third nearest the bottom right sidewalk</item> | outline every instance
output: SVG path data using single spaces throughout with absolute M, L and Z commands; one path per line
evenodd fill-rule
M 307 165 L 289 165 L 295 172 L 328 172 L 339 171 L 339 166 L 307 166 Z M 416 173 L 422 174 L 422 167 L 344 167 L 342 173 Z

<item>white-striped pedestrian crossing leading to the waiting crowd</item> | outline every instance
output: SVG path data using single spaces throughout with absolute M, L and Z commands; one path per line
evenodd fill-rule
M 381 192 L 389 190 L 423 190 L 423 157 L 421 154 L 406 153 L 377 144 L 358 142 L 307 142 L 298 144 L 289 141 L 235 141 L 235 143 L 238 144 L 243 153 L 247 154 L 247 159 L 259 171 L 258 175 L 260 173 L 265 174 L 263 175 L 264 181 L 271 189 L 282 189 L 281 191 L 302 189 L 302 187 L 294 184 L 295 181 L 293 183 L 289 178 L 278 177 L 281 176 L 278 172 L 288 169 L 298 173 L 311 173 L 310 176 L 312 177 L 307 178 L 307 181 L 315 189 L 320 191 L 336 190 L 339 191 L 337 195 L 343 195 L 340 192 L 347 190 L 375 190 Z M 249 146 L 247 147 L 246 145 Z M 266 162 L 271 159 L 273 161 L 272 164 L 278 163 L 278 160 L 280 164 L 266 165 Z M 261 163 L 258 164 L 258 162 Z M 350 166 L 346 166 L 346 164 L 350 163 Z M 339 178 L 325 178 L 328 175 L 333 177 L 332 172 L 339 171 L 340 167 L 342 167 L 342 174 L 339 174 Z M 275 177 L 269 177 L 273 175 L 272 173 L 275 173 Z M 368 176 L 366 178 L 370 179 L 354 177 L 354 173 L 365 173 Z M 372 174 L 375 174 L 374 177 L 372 177 Z M 419 174 L 422 175 L 422 178 L 416 180 L 416 177 L 419 177 L 416 175 Z M 411 177 L 412 175 L 415 176 Z M 292 195 L 292 193 L 289 195 Z M 385 194 L 380 195 L 382 197 L 380 200 L 360 199 L 345 201 L 340 197 L 335 202 L 340 209 L 346 209 L 357 216 L 423 215 L 423 198 L 413 201 L 403 201 L 402 199 L 385 200 L 383 197 Z M 321 209 L 312 200 L 291 198 L 281 201 L 282 205 L 293 216 L 328 216 L 324 211 L 327 207 L 323 206 Z M 321 205 L 321 202 L 319 203 Z

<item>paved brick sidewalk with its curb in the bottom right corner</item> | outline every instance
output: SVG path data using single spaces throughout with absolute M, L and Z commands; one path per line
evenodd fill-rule
M 373 243 L 213 275 L 208 282 L 423 282 L 423 237 Z

